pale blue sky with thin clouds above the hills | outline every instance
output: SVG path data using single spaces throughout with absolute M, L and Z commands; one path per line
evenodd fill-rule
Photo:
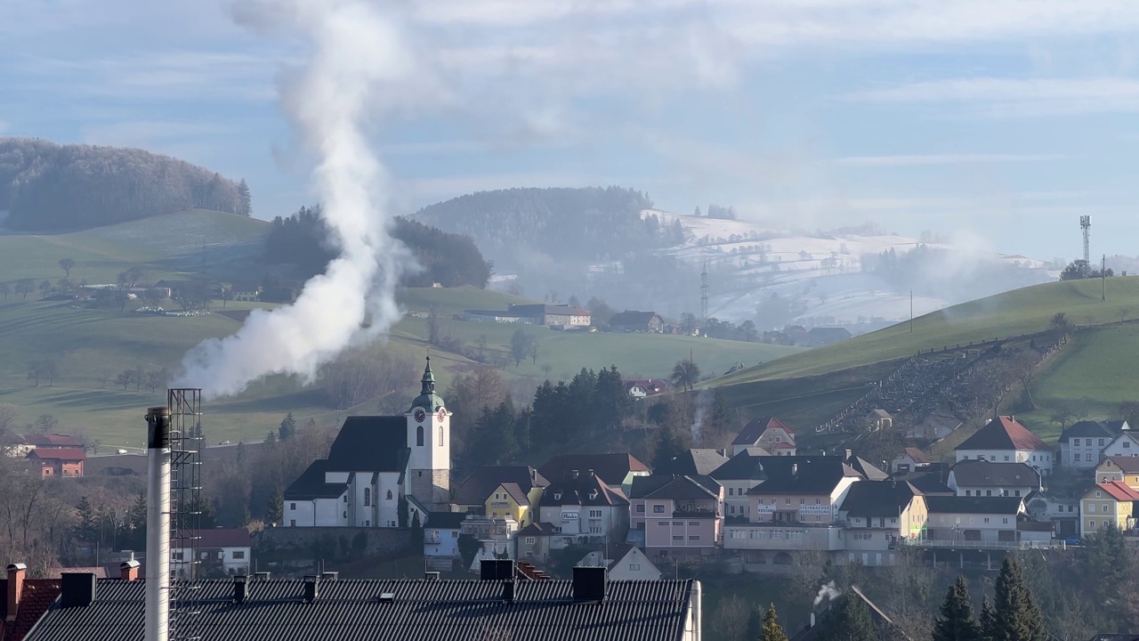
M 310 51 L 247 26 L 249 1 L 273 5 L 3 0 L 0 136 L 179 156 L 246 178 L 261 218 L 311 204 L 277 97 Z M 1139 2 L 375 3 L 420 70 L 370 122 L 396 213 L 621 185 L 1041 259 L 1077 258 L 1087 214 L 1092 254 L 1139 254 Z

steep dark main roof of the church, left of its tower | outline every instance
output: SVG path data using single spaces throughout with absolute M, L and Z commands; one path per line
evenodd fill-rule
M 328 451 L 329 470 L 402 472 L 409 454 L 403 416 L 349 416 Z

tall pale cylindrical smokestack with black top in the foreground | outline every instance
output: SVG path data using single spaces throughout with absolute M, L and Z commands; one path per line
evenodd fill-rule
M 170 633 L 170 408 L 147 411 L 146 641 Z

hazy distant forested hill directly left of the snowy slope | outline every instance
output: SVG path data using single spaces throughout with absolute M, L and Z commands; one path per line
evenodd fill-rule
M 513 257 L 535 252 L 598 260 L 659 246 L 667 235 L 656 219 L 640 218 L 640 211 L 652 206 L 647 194 L 622 187 L 515 188 L 467 194 L 411 218 L 467 234 L 495 262 L 513 267 Z

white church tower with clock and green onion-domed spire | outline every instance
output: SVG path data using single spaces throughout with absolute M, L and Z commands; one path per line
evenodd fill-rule
M 405 414 L 411 451 L 405 487 L 429 509 L 446 512 L 451 503 L 451 413 L 435 393 L 429 356 L 421 382 L 423 389 Z

